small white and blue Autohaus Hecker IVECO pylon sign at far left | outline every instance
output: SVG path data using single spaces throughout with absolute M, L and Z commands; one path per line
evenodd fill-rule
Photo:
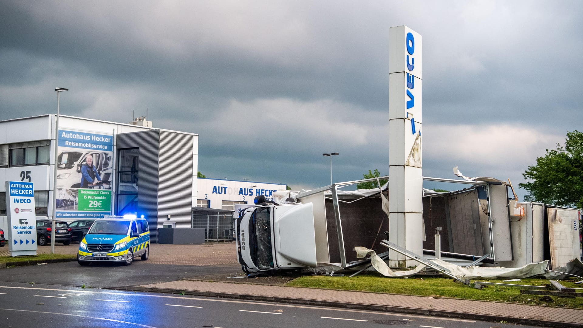
M 10 256 L 36 255 L 36 212 L 32 182 L 6 181 Z

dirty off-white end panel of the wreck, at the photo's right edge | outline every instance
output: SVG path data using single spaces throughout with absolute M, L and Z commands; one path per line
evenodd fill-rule
M 550 263 L 552 270 L 564 267 L 579 256 L 577 210 L 547 208 L 549 218 Z

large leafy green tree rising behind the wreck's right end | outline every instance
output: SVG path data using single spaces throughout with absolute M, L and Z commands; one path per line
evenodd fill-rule
M 531 180 L 518 184 L 529 193 L 525 201 L 583 208 L 583 133 L 567 132 L 564 147 L 546 149 L 522 176 Z

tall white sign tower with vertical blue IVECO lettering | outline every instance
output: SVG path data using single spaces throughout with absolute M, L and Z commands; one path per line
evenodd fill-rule
M 421 36 L 407 26 L 389 30 L 389 240 L 423 255 Z M 392 267 L 416 266 L 392 252 Z

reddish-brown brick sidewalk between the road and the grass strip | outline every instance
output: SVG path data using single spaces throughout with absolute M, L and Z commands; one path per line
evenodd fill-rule
M 547 306 L 467 299 L 192 280 L 161 282 L 120 289 L 175 294 L 182 292 L 190 295 L 220 296 L 351 309 L 387 310 L 416 315 L 440 315 L 498 322 L 505 320 L 509 323 L 543 325 L 546 327 L 583 326 L 582 309 L 550 308 Z

